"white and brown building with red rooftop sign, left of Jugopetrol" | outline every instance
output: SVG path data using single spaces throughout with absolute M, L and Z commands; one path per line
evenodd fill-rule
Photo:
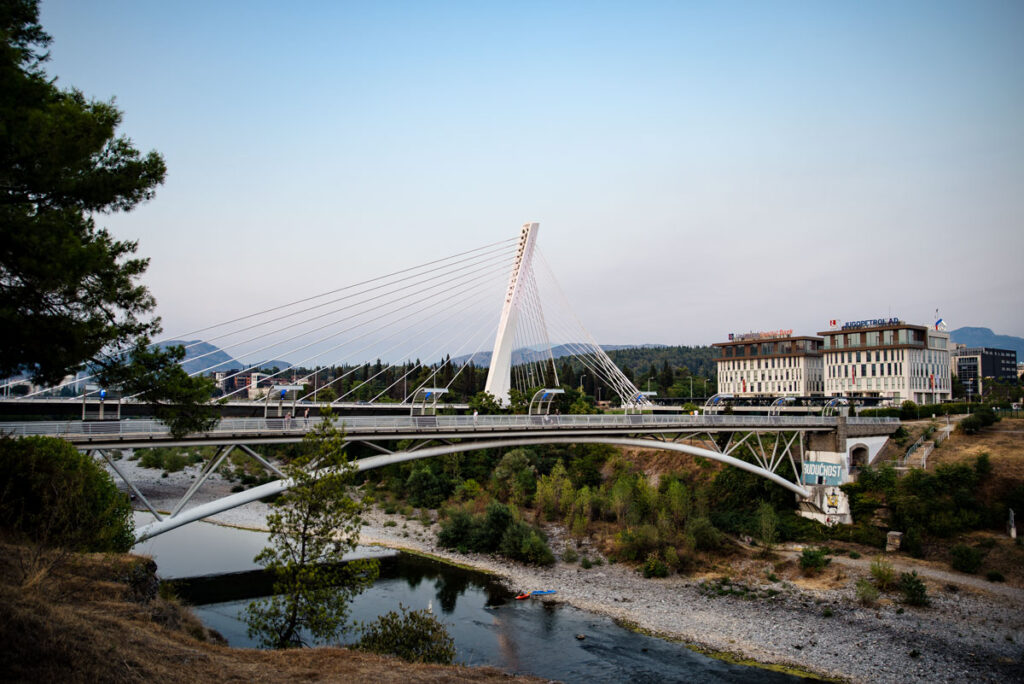
M 718 391 L 733 396 L 814 396 L 824 392 L 820 337 L 792 330 L 729 335 L 716 342 Z

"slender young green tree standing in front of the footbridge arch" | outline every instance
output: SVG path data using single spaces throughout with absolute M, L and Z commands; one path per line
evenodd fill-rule
M 250 637 L 273 648 L 335 640 L 348 601 L 378 573 L 376 559 L 342 564 L 358 543 L 361 506 L 350 496 L 354 471 L 330 413 L 303 446 L 285 467 L 292 487 L 267 515 L 271 546 L 255 559 L 273 573 L 273 595 L 247 608 Z

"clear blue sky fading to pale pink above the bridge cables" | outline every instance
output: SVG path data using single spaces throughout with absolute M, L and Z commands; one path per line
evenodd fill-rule
M 606 344 L 1024 336 L 1024 3 L 43 0 L 166 333 L 514 238 Z M 501 302 L 495 303 L 496 310 Z

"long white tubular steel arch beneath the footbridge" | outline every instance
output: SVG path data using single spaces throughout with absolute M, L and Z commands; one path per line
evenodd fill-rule
M 429 459 L 436 456 L 444 456 L 446 454 L 459 454 L 462 452 L 477 452 L 484 448 L 504 448 L 506 446 L 529 446 L 535 444 L 611 444 L 620 446 L 640 446 L 648 448 L 659 448 L 669 452 L 680 452 L 683 454 L 689 454 L 690 456 L 700 456 L 706 459 L 711 459 L 712 461 L 718 461 L 724 463 L 728 466 L 734 466 L 741 470 L 754 473 L 760 477 L 764 477 L 767 480 L 775 482 L 795 494 L 800 495 L 804 498 L 809 498 L 811 496 L 810 491 L 800 486 L 795 482 L 776 475 L 760 466 L 753 463 L 748 463 L 746 461 L 740 461 L 731 456 L 725 454 L 719 454 L 711 450 L 701 448 L 699 446 L 691 446 L 689 444 L 677 444 L 673 442 L 658 441 L 656 439 L 634 439 L 632 437 L 588 437 L 588 436 L 569 436 L 569 437 L 532 437 L 532 438 L 520 438 L 520 439 L 496 439 L 492 441 L 473 441 L 473 442 L 463 442 L 459 444 L 443 444 L 440 446 L 430 446 L 426 448 L 420 448 L 416 452 L 400 452 L 390 455 L 381 456 L 371 456 L 365 459 L 355 461 L 353 465 L 355 466 L 356 472 L 362 472 L 365 470 L 373 470 L 375 468 L 383 468 L 385 466 L 391 466 L 396 463 L 404 463 L 407 461 L 417 461 L 419 459 Z M 281 494 L 289 489 L 293 482 L 291 480 L 275 480 L 273 482 L 268 482 L 266 484 L 261 484 L 260 486 L 253 487 L 246 491 L 240 491 L 239 494 L 231 495 L 229 497 L 224 497 L 217 501 L 212 501 L 207 504 L 202 504 L 187 511 L 182 511 L 178 515 L 172 518 L 164 518 L 163 520 L 158 520 L 156 522 L 151 522 L 144 527 L 138 530 L 136 536 L 136 542 L 141 542 L 146 539 L 152 539 L 158 535 L 163 535 L 172 529 L 180 527 L 182 525 L 188 524 L 189 522 L 195 522 L 197 520 L 202 520 L 203 518 L 210 517 L 211 515 L 216 515 L 217 513 L 223 513 L 232 508 L 238 508 L 239 506 L 244 506 L 245 504 L 250 504 L 254 501 L 259 501 L 260 499 L 265 499 L 267 497 L 272 497 L 274 495 Z

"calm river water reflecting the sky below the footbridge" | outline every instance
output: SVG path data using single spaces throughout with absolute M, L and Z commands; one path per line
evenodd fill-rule
M 196 523 L 145 542 L 135 551 L 154 556 L 163 579 L 180 579 L 252 570 L 252 558 L 265 541 L 261 532 Z M 456 659 L 465 665 L 489 665 L 565 682 L 803 681 L 710 658 L 571 606 L 540 599 L 516 601 L 480 572 L 407 554 L 372 553 L 384 556 L 381 576 L 352 602 L 351 619 L 371 622 L 399 604 L 429 607 L 446 625 L 455 639 Z M 206 603 L 194 610 L 232 646 L 253 646 L 240 617 L 250 600 Z

